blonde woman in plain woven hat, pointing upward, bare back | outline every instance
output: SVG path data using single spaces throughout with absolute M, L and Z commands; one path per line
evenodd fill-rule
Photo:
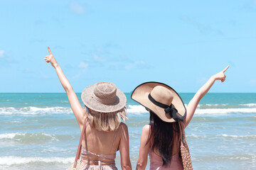
M 119 149 L 122 169 L 132 169 L 129 159 L 129 136 L 126 120 L 125 105 L 127 98 L 124 93 L 110 82 L 99 82 L 88 86 L 82 91 L 80 105 L 68 79 L 63 74 L 58 62 L 48 47 L 49 55 L 44 60 L 55 68 L 60 83 L 63 85 L 70 106 L 78 121 L 81 134 L 82 169 L 117 169 L 114 163 Z M 77 155 L 80 157 L 80 154 Z M 74 166 L 77 163 L 75 162 Z M 73 168 L 73 167 L 72 167 Z

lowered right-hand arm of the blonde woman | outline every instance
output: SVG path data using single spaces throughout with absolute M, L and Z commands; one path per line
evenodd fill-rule
M 132 169 L 132 164 L 129 159 L 129 135 L 127 125 L 121 123 L 121 140 L 119 143 L 119 152 L 121 156 L 122 169 Z

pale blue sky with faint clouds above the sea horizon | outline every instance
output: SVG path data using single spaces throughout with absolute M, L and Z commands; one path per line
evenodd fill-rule
M 256 92 L 256 1 L 0 1 L 0 92 L 64 92 L 47 45 L 81 92 L 161 81 L 196 92 Z

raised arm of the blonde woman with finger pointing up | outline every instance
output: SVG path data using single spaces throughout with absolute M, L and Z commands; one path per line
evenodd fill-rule
M 70 82 L 68 81 L 68 79 L 65 77 L 65 74 L 60 68 L 60 65 L 53 57 L 53 54 L 50 51 L 50 47 L 48 47 L 48 52 L 49 52 L 49 55 L 46 55 L 46 58 L 44 58 L 44 60 L 46 60 L 46 62 L 48 63 L 50 62 L 50 64 L 55 68 L 58 78 L 60 79 L 60 83 L 68 95 L 68 101 L 70 103 L 73 113 L 75 114 L 75 118 L 78 120 L 78 124 L 80 125 L 80 128 L 81 128 L 83 125 L 83 120 L 85 118 L 85 111 L 80 105 L 80 102 L 78 101 L 78 96 L 76 96 L 75 91 L 73 91 L 73 88 L 70 85 Z

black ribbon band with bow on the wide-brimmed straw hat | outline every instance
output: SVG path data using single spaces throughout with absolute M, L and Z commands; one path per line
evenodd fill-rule
M 176 121 L 183 121 L 185 117 L 183 118 L 177 111 L 176 108 L 171 107 L 173 104 L 171 103 L 171 106 L 168 106 L 166 104 L 160 103 L 156 101 L 151 94 L 149 94 L 149 101 L 154 103 L 156 106 L 159 106 L 160 108 L 164 108 L 165 113 L 169 113 L 171 115 L 171 118 L 173 118 Z

